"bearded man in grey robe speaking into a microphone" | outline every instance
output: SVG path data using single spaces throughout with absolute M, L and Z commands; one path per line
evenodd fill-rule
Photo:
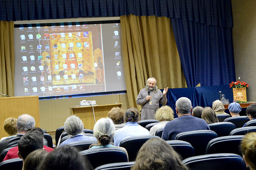
M 159 108 L 159 103 L 167 103 L 166 93 L 168 87 L 163 92 L 156 86 L 156 79 L 150 77 L 146 81 L 145 88 L 140 90 L 136 103 L 142 106 L 140 120 L 155 119 L 155 112 Z

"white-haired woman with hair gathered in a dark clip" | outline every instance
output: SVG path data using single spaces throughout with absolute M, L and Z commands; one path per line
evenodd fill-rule
M 94 125 L 94 136 L 97 138 L 98 143 L 91 144 L 89 149 L 101 147 L 116 147 L 114 146 L 114 143 L 111 142 L 115 132 L 116 129 L 114 127 L 114 123 L 110 118 L 99 119 Z M 128 157 L 128 153 L 125 148 L 118 148 L 123 149 Z

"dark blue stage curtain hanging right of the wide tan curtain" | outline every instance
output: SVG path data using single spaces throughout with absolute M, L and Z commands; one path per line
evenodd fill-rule
M 190 1 L 183 2 L 186 4 Z M 201 2 L 202 4 L 181 4 L 182 14 L 187 16 L 171 18 L 187 86 L 195 87 L 198 83 L 201 86 L 229 84 L 235 80 L 231 2 Z M 207 11 L 202 11 L 203 5 Z M 215 11 L 215 15 L 211 11 Z M 201 15 L 203 18 L 196 18 L 194 13 L 197 12 L 205 15 Z M 191 19 L 193 17 L 194 20 Z M 202 22 L 205 20 L 207 22 Z

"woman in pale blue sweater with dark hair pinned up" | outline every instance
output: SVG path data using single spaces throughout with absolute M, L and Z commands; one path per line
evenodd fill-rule
M 118 129 L 114 135 L 114 145 L 119 146 L 121 140 L 132 136 L 149 135 L 149 131 L 138 124 L 139 111 L 136 108 L 130 108 L 124 114 L 124 127 Z

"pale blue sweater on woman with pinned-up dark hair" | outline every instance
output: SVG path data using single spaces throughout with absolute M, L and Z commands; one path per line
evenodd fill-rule
M 119 146 L 121 140 L 127 137 L 149 135 L 148 129 L 138 125 L 137 122 L 128 121 L 124 127 L 118 129 L 114 135 L 114 145 Z

